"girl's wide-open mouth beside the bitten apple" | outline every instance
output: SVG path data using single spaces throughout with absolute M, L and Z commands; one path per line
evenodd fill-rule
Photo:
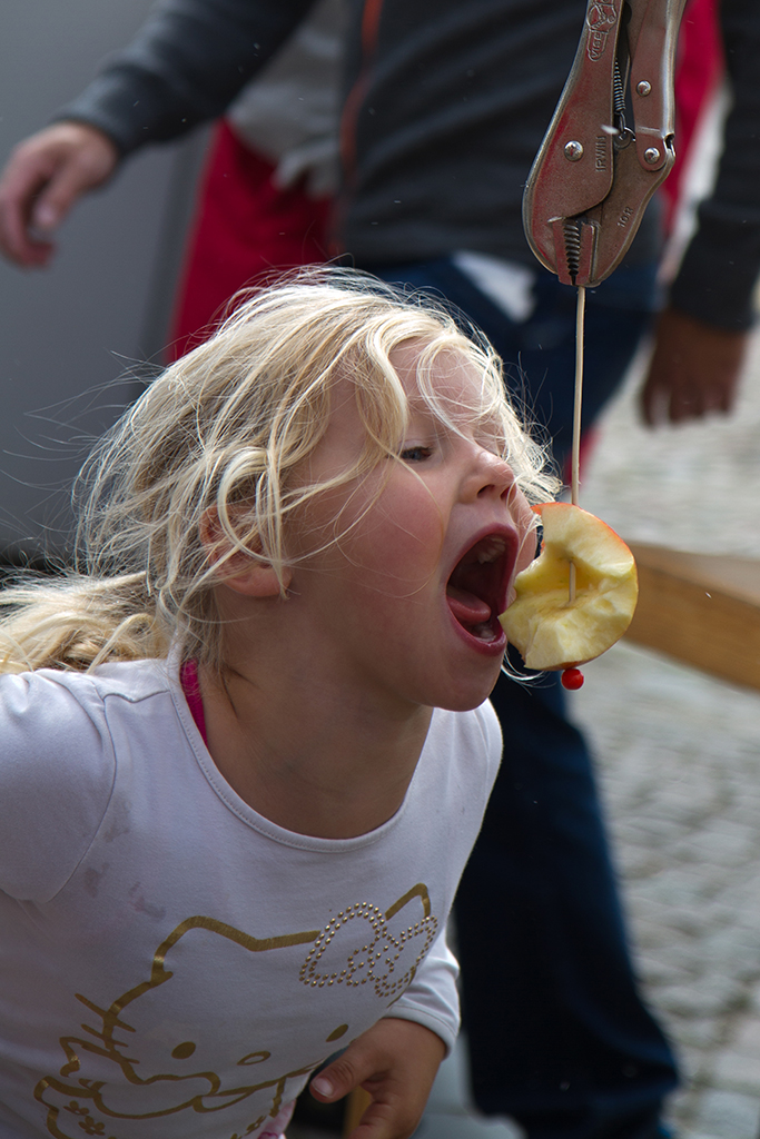
M 500 534 L 480 539 L 453 567 L 447 600 L 471 637 L 482 641 L 504 638 L 499 613 L 506 605 L 508 575 L 508 543 Z

